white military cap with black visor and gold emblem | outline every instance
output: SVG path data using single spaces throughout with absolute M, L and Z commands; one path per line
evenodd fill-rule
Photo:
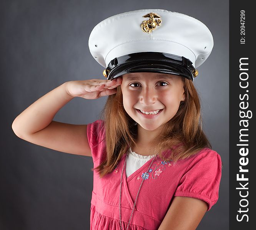
M 161 9 L 111 16 L 91 31 L 89 49 L 114 79 L 130 72 L 160 72 L 193 81 L 213 49 L 213 36 L 201 21 Z

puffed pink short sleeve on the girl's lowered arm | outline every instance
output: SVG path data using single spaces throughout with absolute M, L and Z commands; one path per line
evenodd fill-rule
M 180 179 L 174 196 L 193 197 L 208 204 L 209 211 L 219 197 L 221 157 L 208 149 L 195 155 Z

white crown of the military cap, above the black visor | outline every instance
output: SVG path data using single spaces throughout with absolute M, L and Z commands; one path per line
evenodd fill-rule
M 145 25 L 143 31 L 143 21 L 150 20 L 146 18 L 150 13 L 160 18 L 153 17 L 155 21 Z M 101 21 L 91 31 L 88 45 L 92 56 L 105 68 L 114 58 L 140 52 L 184 56 L 198 67 L 211 53 L 213 36 L 204 23 L 191 16 L 163 9 L 142 9 Z

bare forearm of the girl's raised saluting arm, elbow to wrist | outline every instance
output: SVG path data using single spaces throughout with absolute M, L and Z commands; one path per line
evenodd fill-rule
M 14 133 L 31 135 L 47 127 L 55 114 L 74 97 L 66 90 L 67 82 L 40 97 L 18 115 L 12 123 Z

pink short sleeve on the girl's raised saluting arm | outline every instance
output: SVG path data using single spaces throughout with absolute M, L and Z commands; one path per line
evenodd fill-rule
M 103 148 L 103 139 L 105 137 L 105 128 L 103 120 L 96 120 L 93 123 L 87 124 L 87 138 L 89 146 L 91 148 L 91 156 L 93 162 L 99 159 L 102 155 Z

